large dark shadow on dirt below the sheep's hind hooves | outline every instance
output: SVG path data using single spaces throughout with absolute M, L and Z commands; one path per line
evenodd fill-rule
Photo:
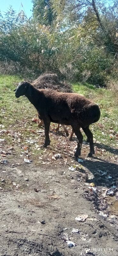
M 86 159 L 84 162 L 81 162 L 81 165 L 87 168 L 88 171 L 94 175 L 94 177 L 88 178 L 88 183 L 93 182 L 96 186 L 117 186 L 118 164 L 105 161 L 98 157 L 92 157 L 90 159 Z

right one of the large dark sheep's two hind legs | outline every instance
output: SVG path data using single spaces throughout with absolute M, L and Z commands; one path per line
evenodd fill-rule
M 95 154 L 94 144 L 93 144 L 93 134 L 90 131 L 89 126 L 86 128 L 82 127 L 82 129 L 85 132 L 85 134 L 87 136 L 87 141 L 89 141 L 89 144 L 90 144 L 90 152 L 89 152 L 88 156 L 92 156 L 92 154 Z

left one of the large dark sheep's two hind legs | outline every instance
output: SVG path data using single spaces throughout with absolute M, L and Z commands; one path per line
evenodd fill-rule
M 81 148 L 82 148 L 82 142 L 83 142 L 83 135 L 80 132 L 80 127 L 74 127 L 72 126 L 73 131 L 75 132 L 75 135 L 77 136 L 77 150 L 74 154 L 74 156 L 77 158 L 79 155 L 81 155 Z

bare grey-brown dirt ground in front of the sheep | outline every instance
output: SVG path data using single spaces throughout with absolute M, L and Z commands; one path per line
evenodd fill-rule
M 0 256 L 118 255 L 117 187 L 114 208 L 113 197 L 102 194 L 117 181 L 117 161 L 88 158 L 71 171 L 61 159 L 46 167 L 7 160 L 0 164 Z M 100 169 L 112 178 L 95 174 Z M 82 214 L 85 221 L 75 220 Z

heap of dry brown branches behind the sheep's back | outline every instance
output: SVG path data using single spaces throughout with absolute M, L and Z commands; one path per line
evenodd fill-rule
M 59 81 L 57 74 L 44 73 L 32 82 L 37 89 L 52 89 L 58 92 L 72 92 L 72 86 L 65 81 Z

